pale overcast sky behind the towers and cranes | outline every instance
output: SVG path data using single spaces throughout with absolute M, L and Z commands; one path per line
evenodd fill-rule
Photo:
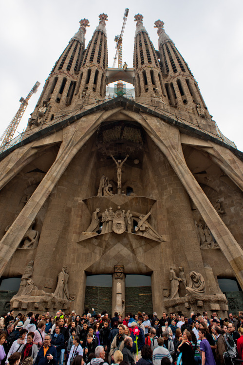
M 17 131 L 29 114 L 54 63 L 70 38 L 87 18 L 86 45 L 98 25 L 98 15 L 108 14 L 109 67 L 115 55 L 115 35 L 121 31 L 125 8 L 129 15 L 123 37 L 123 61 L 132 67 L 134 15 L 144 16 L 150 39 L 158 49 L 154 21 L 165 22 L 165 31 L 185 58 L 198 82 L 207 108 L 222 133 L 243 150 L 243 0 L 8 0 L 0 1 L 0 135 L 35 82 L 41 82 L 30 100 Z

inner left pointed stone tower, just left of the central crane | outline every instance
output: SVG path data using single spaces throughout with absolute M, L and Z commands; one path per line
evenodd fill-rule
M 102 100 L 106 94 L 106 68 L 108 66 L 106 14 L 99 15 L 99 25 L 85 51 L 78 80 L 78 98 Z

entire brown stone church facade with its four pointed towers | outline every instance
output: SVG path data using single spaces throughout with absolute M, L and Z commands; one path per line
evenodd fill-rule
M 82 313 L 89 275 L 112 275 L 112 314 L 128 310 L 128 274 L 150 276 L 158 315 L 224 315 L 218 279 L 243 288 L 243 154 L 164 22 L 155 50 L 134 18 L 133 67 L 123 69 L 108 68 L 107 15 L 87 48 L 80 21 L 21 142 L 0 154 L 0 276 L 21 278 L 15 310 Z M 106 97 L 119 80 L 134 98 Z

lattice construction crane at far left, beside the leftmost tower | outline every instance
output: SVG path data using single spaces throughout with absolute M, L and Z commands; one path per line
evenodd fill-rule
M 19 110 L 17 111 L 17 113 L 15 114 L 15 116 L 13 117 L 13 119 L 11 120 L 10 124 L 8 125 L 8 127 L 5 129 L 3 135 L 0 138 L 0 141 L 2 141 L 0 146 L 4 146 L 7 145 L 13 138 L 13 135 L 16 132 L 16 129 L 19 125 L 19 122 L 23 116 L 23 113 L 25 111 L 25 109 L 28 106 L 28 100 L 30 99 L 30 97 L 35 94 L 37 92 L 38 87 L 40 86 L 40 82 L 37 81 L 35 83 L 35 85 L 33 86 L 33 88 L 31 89 L 31 91 L 28 93 L 26 99 L 24 99 L 23 97 L 20 98 L 20 107 Z

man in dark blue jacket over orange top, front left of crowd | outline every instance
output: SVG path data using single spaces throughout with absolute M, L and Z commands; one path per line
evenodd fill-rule
M 56 347 L 51 345 L 51 335 L 46 334 L 44 345 L 40 347 L 35 365 L 56 365 L 57 355 Z

